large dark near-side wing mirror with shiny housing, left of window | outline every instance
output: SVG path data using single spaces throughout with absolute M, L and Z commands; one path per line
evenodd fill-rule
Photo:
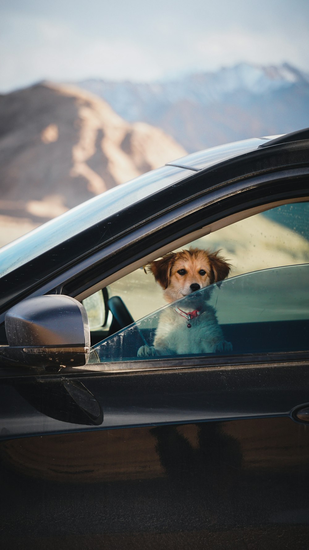
M 0 359 L 29 366 L 82 366 L 89 358 L 90 331 L 85 307 L 61 294 L 29 298 L 5 315 L 8 346 Z

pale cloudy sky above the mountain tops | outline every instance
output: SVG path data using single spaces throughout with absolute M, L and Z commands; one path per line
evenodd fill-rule
M 255 30 L 252 24 L 250 28 L 244 24 L 245 19 L 241 23 L 239 10 L 235 11 L 238 20 L 235 24 L 227 13 L 220 18 L 220 10 L 215 13 L 213 5 L 208 9 L 203 3 L 199 18 L 198 0 L 195 12 L 190 12 L 187 18 L 183 6 L 173 13 L 167 6 L 163 16 L 158 9 L 148 12 L 143 4 L 134 24 L 131 13 L 127 25 L 125 10 L 117 19 L 115 8 L 109 7 L 105 13 L 104 5 L 98 14 L 93 11 L 93 27 L 89 24 L 91 9 L 87 9 L 88 24 L 83 24 L 78 10 L 72 18 L 66 13 L 61 17 L 56 9 L 50 11 L 50 17 L 47 13 L 40 15 L 39 9 L 34 8 L 32 13 L 18 10 L 2 13 L 0 91 L 44 79 L 150 81 L 193 70 L 216 70 L 244 61 L 256 64 L 287 61 L 309 70 L 307 21 L 304 18 L 301 24 L 298 12 L 297 32 L 295 21 L 291 21 L 287 34 L 286 27 L 271 26 L 268 19 L 262 26 L 260 13 Z M 286 9 L 286 3 L 281 5 Z M 136 10 L 137 7 L 135 2 Z M 245 14 L 246 20 L 249 15 Z M 195 24 L 190 24 L 194 20 Z

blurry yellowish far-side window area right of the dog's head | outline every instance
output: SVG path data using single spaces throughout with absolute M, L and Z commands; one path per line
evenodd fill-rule
M 309 262 L 309 203 L 272 208 L 217 230 L 194 245 L 221 249 L 230 277 L 269 267 Z

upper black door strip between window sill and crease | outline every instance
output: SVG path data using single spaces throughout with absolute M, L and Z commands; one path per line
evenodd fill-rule
M 35 381 L 31 376 L 3 379 L 0 406 L 4 437 L 95 429 L 95 423 L 78 420 L 63 392 L 65 378 L 44 375 Z M 99 429 L 283 416 L 309 403 L 308 359 L 281 364 L 93 373 L 69 375 L 68 379 L 82 384 L 94 397 L 104 415 Z M 25 418 L 24 423 L 20 416 Z

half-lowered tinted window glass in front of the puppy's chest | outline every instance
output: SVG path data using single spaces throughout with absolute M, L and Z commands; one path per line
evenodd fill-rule
M 215 283 L 95 345 L 90 362 L 308 349 L 309 264 Z

